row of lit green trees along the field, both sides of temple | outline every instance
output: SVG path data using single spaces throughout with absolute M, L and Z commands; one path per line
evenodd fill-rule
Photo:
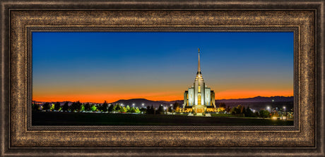
M 90 104 L 81 103 L 80 101 L 75 101 L 69 106 L 69 102 L 65 102 L 63 106 L 61 103 L 44 103 L 42 108 L 40 105 L 32 103 L 32 111 L 64 111 L 64 112 L 107 112 L 107 113 L 146 113 L 146 114 L 165 114 L 168 112 L 177 112 L 177 108 L 180 108 L 179 103 L 174 103 L 172 106 L 168 106 L 165 111 L 164 107 L 160 105 L 158 108 L 154 108 L 153 105 L 147 106 L 146 108 L 122 106 L 121 104 L 108 104 L 104 101 L 102 104 Z M 241 117 L 252 117 L 252 118 L 271 118 L 273 116 L 278 117 L 278 112 L 269 112 L 267 110 L 260 110 L 253 112 L 249 106 L 238 105 L 236 107 L 230 108 L 230 106 L 225 106 L 225 103 L 219 104 L 220 111 L 225 111 L 231 113 L 232 115 L 237 115 Z

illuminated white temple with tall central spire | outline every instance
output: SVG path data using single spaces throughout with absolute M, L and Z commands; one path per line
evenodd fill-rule
M 203 115 L 205 115 L 204 113 L 206 113 L 207 108 L 209 108 L 208 111 L 214 111 L 216 108 L 215 93 L 211 88 L 206 86 L 202 77 L 200 68 L 200 49 L 198 71 L 196 73 L 194 84 L 184 92 L 184 108 L 191 110 L 194 115 L 196 115 L 196 113 L 203 113 Z

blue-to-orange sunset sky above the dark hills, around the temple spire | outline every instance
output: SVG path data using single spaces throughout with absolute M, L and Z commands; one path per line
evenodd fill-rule
M 32 99 L 183 99 L 198 47 L 215 99 L 293 96 L 293 32 L 32 32 Z

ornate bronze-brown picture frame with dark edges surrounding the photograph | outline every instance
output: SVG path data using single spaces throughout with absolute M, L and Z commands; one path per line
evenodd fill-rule
M 32 126 L 30 32 L 44 30 L 293 31 L 295 124 Z M 1 156 L 324 156 L 324 1 L 1 1 L 1 47 Z

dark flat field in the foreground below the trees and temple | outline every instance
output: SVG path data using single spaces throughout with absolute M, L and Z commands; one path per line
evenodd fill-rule
M 32 125 L 293 125 L 293 121 L 184 115 L 33 112 Z

